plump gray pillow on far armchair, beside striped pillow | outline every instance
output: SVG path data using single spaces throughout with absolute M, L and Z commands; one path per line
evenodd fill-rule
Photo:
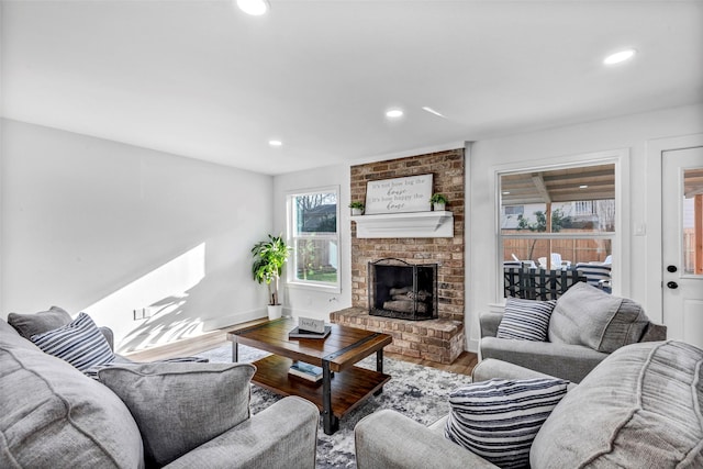
M 635 301 L 578 282 L 557 300 L 549 321 L 549 342 L 610 354 L 639 342 L 648 324 Z

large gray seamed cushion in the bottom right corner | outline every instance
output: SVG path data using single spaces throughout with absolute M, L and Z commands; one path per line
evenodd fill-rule
M 703 350 L 622 347 L 561 400 L 533 443 L 533 468 L 703 467 Z

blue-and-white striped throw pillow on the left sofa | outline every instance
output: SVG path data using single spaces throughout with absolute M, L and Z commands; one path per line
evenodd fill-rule
M 31 339 L 44 353 L 62 358 L 83 372 L 114 359 L 108 340 L 86 313 L 63 327 L 33 335 Z

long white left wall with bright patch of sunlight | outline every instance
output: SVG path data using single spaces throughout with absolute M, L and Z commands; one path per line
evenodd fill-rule
M 126 351 L 266 315 L 249 250 L 272 177 L 15 121 L 2 136 L 3 316 L 86 311 Z

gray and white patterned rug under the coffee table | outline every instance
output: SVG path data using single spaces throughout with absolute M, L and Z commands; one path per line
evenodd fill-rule
M 239 361 L 255 361 L 268 355 L 266 351 L 239 345 Z M 213 362 L 232 362 L 232 346 L 226 345 L 198 354 Z M 365 358 L 357 366 L 376 369 L 376 355 Z M 428 425 L 449 412 L 449 393 L 471 381 L 465 375 L 442 371 L 436 368 L 413 365 L 384 358 L 383 372 L 391 380 L 380 395 L 369 398 L 339 421 L 334 435 L 325 435 L 322 420 L 317 432 L 317 468 L 356 468 L 354 456 L 354 426 L 365 416 L 381 409 L 395 410 L 416 422 Z M 281 399 L 272 392 L 252 386 L 252 412 L 256 414 Z

